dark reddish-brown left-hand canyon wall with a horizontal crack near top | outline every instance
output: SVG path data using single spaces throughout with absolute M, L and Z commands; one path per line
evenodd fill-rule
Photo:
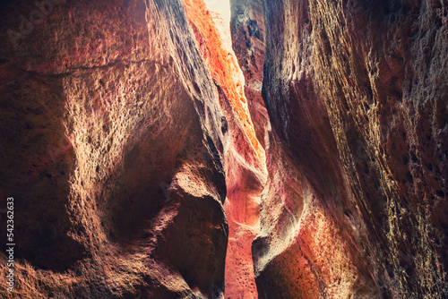
M 1 296 L 222 297 L 222 114 L 183 4 L 46 4 L 1 12 L 0 194 L 17 237 Z

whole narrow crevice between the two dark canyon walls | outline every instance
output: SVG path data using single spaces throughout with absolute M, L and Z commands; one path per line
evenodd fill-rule
M 202 0 L 184 0 L 184 3 L 198 47 L 218 88 L 221 112 L 228 124 L 224 136 L 227 184 L 224 209 L 229 228 L 225 297 L 258 298 L 252 242 L 259 232 L 259 202 L 267 176 L 264 146 L 269 120 L 261 89 L 257 87 L 263 76 L 264 48 L 257 44 L 261 53 L 252 51 L 253 57 L 245 58 L 238 51 L 238 45 L 249 43 L 254 48 L 254 38 L 263 40 L 263 29 L 246 16 L 245 24 L 237 26 L 249 26 L 252 30 L 237 37 L 236 34 L 243 32 L 235 30 L 235 21 L 232 21 L 231 34 L 228 19 L 224 21 L 223 13 L 217 10 L 217 6 L 224 5 L 222 2 L 211 2 L 209 6 Z M 235 17 L 232 10 L 232 20 Z M 241 16 L 240 19 L 243 20 Z M 246 59 L 252 64 L 242 65 Z

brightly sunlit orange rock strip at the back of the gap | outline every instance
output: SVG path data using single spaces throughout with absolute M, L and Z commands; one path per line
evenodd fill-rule
M 264 149 L 257 139 L 245 94 L 245 77 L 233 52 L 228 24 L 202 0 L 185 0 L 185 11 L 202 56 L 220 90 L 228 125 L 224 145 L 228 217 L 226 298 L 257 298 L 252 241 L 258 233 L 259 201 L 265 182 Z M 251 99 L 252 100 L 252 99 Z

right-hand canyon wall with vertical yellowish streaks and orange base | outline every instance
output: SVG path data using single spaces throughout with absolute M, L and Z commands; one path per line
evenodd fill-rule
M 447 10 L 263 1 L 261 298 L 448 295 Z

